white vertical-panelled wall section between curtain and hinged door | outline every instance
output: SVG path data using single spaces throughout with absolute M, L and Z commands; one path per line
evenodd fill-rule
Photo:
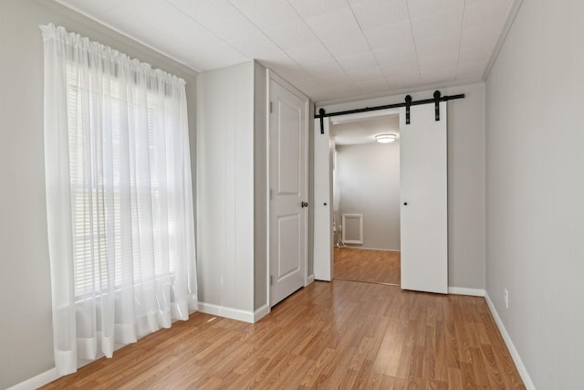
M 203 311 L 254 311 L 254 63 L 197 79 L 197 262 Z

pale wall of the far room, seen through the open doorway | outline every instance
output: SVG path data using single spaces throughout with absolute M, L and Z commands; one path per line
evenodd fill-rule
M 335 168 L 339 217 L 363 215 L 358 247 L 400 250 L 400 142 L 339 145 Z

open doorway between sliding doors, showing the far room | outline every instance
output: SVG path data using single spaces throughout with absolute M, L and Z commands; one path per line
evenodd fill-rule
M 333 278 L 400 286 L 399 114 L 332 118 L 330 136 Z

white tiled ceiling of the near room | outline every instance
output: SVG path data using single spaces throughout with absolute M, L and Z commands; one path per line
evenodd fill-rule
M 57 0 L 187 67 L 257 59 L 325 103 L 480 81 L 514 0 Z

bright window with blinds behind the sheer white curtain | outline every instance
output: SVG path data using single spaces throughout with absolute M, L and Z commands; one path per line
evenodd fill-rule
M 68 100 L 68 149 L 69 149 L 69 173 L 71 181 L 71 212 L 73 228 L 73 254 L 74 254 L 74 279 L 75 296 L 77 300 L 83 300 L 100 291 L 108 290 L 110 284 L 108 258 L 113 258 L 113 273 L 115 289 L 127 287 L 129 284 L 140 283 L 142 279 L 172 278 L 174 270 L 174 253 L 169 247 L 169 241 L 174 239 L 174 227 L 172 219 L 164 218 L 162 202 L 168 198 L 168 192 L 172 193 L 173 173 L 170 172 L 168 185 L 161 186 L 159 166 L 161 158 L 157 152 L 159 143 L 172 143 L 172 138 L 167 139 L 163 127 L 156 127 L 154 123 L 159 119 L 165 123 L 172 123 L 172 100 L 164 91 L 148 89 L 146 100 L 132 103 L 134 112 L 133 121 L 140 121 L 141 115 L 146 115 L 147 137 L 141 139 L 144 145 L 136 145 L 147 153 L 147 164 L 141 165 L 141 174 L 122 174 L 122 159 L 120 142 L 124 139 L 121 126 L 121 112 L 128 104 L 120 93 L 120 82 L 117 78 L 103 80 L 107 85 L 102 85 L 103 98 L 109 100 L 109 109 L 102 113 L 101 126 L 97 131 L 104 132 L 99 137 L 92 136 L 88 132 L 79 110 L 83 109 L 83 92 L 89 96 L 89 117 L 96 115 L 96 101 L 92 99 L 94 91 L 91 83 L 91 69 L 89 69 L 89 89 L 80 91 L 78 79 L 80 69 L 75 64 L 67 66 L 67 100 Z M 109 133 L 105 133 L 109 132 Z M 172 134 L 172 132 L 169 132 Z M 95 135 L 95 134 L 93 134 Z M 101 144 L 99 144 L 101 142 Z M 89 143 L 89 144 L 88 144 Z M 109 149 L 109 151 L 108 151 Z M 172 153 L 172 151 L 166 151 Z M 99 155 L 109 153 L 110 167 L 103 167 L 99 163 Z M 146 156 L 144 156 L 146 160 Z M 110 169 L 108 174 L 93 172 L 92 166 L 96 163 L 101 169 Z M 87 180 L 88 174 L 93 177 Z M 128 184 L 130 181 L 130 185 Z M 135 197 L 138 202 L 130 201 L 131 218 L 133 225 L 137 224 L 138 207 L 140 202 L 152 208 L 152 234 L 143 229 L 131 229 L 132 248 L 140 248 L 140 243 L 151 239 L 151 250 L 154 259 L 154 273 L 142 274 L 141 257 L 138 250 L 131 254 L 132 262 L 122 260 L 121 237 L 124 197 L 132 196 L 128 192 L 130 187 L 135 188 Z M 172 197 L 172 196 L 171 196 Z M 150 201 L 149 201 L 150 199 Z M 113 228 L 113 234 L 107 234 L 107 227 Z M 126 227 L 127 228 L 127 227 Z M 164 250 L 162 250 L 164 248 Z M 162 253 L 165 253 L 165 256 Z M 124 256 L 128 256 L 127 254 Z M 94 261 L 95 260 L 95 261 Z

